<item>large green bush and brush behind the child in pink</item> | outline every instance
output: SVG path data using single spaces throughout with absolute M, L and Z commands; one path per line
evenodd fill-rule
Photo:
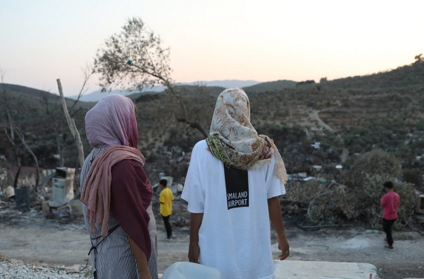
M 307 207 L 306 218 L 318 224 L 337 224 L 359 220 L 381 228 L 381 197 L 385 181 L 394 182 L 401 197 L 397 228 L 405 226 L 414 211 L 414 188 L 407 182 L 396 182 L 402 174 L 398 159 L 377 149 L 361 154 L 350 170 L 342 174 L 343 183 L 317 181 L 287 185 L 286 198 Z

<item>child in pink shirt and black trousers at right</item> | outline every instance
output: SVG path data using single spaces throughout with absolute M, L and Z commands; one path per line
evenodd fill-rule
M 393 191 L 392 181 L 384 183 L 386 194 L 381 198 L 381 206 L 383 206 L 383 231 L 386 233 L 387 244 L 385 248 L 394 251 L 392 226 L 398 218 L 398 208 L 401 203 L 401 198 L 398 193 Z

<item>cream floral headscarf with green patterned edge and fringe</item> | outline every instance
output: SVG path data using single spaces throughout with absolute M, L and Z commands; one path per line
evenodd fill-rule
M 250 123 L 249 98 L 240 88 L 227 88 L 219 94 L 206 141 L 211 153 L 227 167 L 258 169 L 270 164 L 275 156 L 274 174 L 283 183 L 287 181 L 284 162 L 274 142 L 258 135 Z

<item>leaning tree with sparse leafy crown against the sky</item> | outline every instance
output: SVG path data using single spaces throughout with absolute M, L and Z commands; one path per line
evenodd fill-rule
M 183 93 L 171 78 L 169 54 L 169 48 L 162 46 L 160 37 L 141 18 L 130 18 L 122 31 L 106 39 L 105 46 L 97 51 L 94 71 L 100 74 L 102 91 L 116 87 L 134 91 L 146 86 L 165 86 L 167 96 L 179 104 L 179 109 L 173 112 L 174 119 L 208 137 L 190 115 Z

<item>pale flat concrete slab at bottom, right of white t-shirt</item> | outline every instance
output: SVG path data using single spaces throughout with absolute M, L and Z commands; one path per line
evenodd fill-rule
M 275 279 L 378 279 L 377 269 L 365 263 L 275 261 Z

